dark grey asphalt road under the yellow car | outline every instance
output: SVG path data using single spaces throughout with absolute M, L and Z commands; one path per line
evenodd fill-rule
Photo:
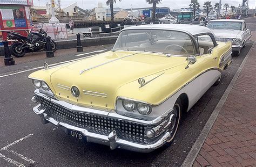
M 210 88 L 191 111 L 183 115 L 171 146 L 149 154 L 110 150 L 107 146 L 74 139 L 51 124 L 42 125 L 39 117 L 32 112 L 35 104 L 30 99 L 34 88 L 30 79 L 26 78 L 35 70 L 17 72 L 38 67 L 45 60 L 0 68 L 0 166 L 179 166 L 251 46 L 252 41 L 249 41 L 241 54 L 233 57 L 232 65 L 224 71 L 221 84 Z M 75 58 L 78 57 L 55 57 L 48 59 L 48 62 L 56 63 Z

